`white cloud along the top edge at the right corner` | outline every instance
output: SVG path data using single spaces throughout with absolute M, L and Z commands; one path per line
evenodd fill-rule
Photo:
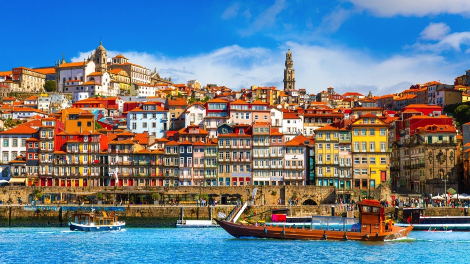
M 375 16 L 470 15 L 469 0 L 348 0 Z

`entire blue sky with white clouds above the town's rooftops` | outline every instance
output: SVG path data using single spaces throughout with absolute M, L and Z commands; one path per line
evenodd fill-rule
M 0 70 L 108 55 L 177 83 L 282 88 L 290 48 L 297 88 L 399 92 L 470 69 L 470 1 L 15 1 L 2 3 Z

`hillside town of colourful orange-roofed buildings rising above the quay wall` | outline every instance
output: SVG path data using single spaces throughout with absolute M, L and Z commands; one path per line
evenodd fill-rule
M 83 62 L 0 71 L 0 180 L 469 190 L 470 123 L 445 108 L 470 101 L 470 70 L 386 95 L 307 93 L 289 50 L 283 84 L 177 84 L 102 43 Z

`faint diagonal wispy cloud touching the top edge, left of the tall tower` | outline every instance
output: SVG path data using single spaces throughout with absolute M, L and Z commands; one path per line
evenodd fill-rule
M 253 22 L 249 23 L 248 28 L 239 29 L 237 33 L 242 37 L 251 36 L 268 27 L 272 27 L 276 23 L 276 17 L 286 7 L 285 0 L 276 0 L 272 6 L 259 13 Z M 248 11 L 248 13 L 246 13 Z M 251 17 L 250 10 L 245 10 L 245 17 Z

